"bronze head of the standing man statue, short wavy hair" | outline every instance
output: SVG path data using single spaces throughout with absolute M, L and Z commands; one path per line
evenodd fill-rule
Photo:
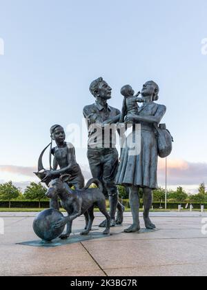
M 90 84 L 90 93 L 94 97 L 100 97 L 102 99 L 110 99 L 111 98 L 111 91 L 112 88 L 108 86 L 106 81 L 103 81 L 102 77 L 99 77 L 99 79 L 95 79 L 95 81 L 92 81 Z

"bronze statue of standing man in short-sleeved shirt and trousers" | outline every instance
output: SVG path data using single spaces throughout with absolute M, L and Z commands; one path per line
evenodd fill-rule
M 106 136 L 104 124 L 116 124 L 120 111 L 108 106 L 112 89 L 102 77 L 90 84 L 90 93 L 95 97 L 95 104 L 83 108 L 83 115 L 88 123 L 88 161 L 93 178 L 97 178 L 104 187 L 110 202 L 110 226 L 122 224 L 124 206 L 119 202 L 119 192 L 115 185 L 115 175 L 119 166 L 119 154 L 116 148 L 116 132 Z M 117 211 L 117 220 L 115 214 Z M 100 224 L 106 226 L 106 221 Z

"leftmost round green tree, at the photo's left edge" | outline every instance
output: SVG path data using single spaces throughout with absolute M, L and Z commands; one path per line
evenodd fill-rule
M 20 194 L 21 191 L 12 182 L 0 184 L 0 200 L 8 200 L 9 208 L 11 207 L 11 200 L 17 199 Z

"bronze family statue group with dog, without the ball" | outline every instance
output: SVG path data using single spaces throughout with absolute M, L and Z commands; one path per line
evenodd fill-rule
M 157 189 L 158 157 L 167 157 L 172 151 L 172 137 L 166 126 L 160 124 L 166 113 L 166 106 L 155 103 L 159 99 L 159 86 L 154 81 L 147 81 L 137 95 L 129 85 L 121 88 L 121 95 L 124 96 L 121 112 L 108 105 L 111 92 L 112 89 L 101 77 L 92 81 L 90 93 L 95 97 L 95 103 L 83 108 L 83 116 L 88 126 L 88 162 L 93 177 L 86 187 L 81 168 L 76 162 L 75 148 L 65 142 L 66 135 L 61 126 L 55 125 L 50 129 L 51 139 L 57 144 L 55 148 L 52 148 L 52 141 L 49 144 L 50 156 L 54 157 L 53 166 L 50 157 L 50 170 L 44 169 L 41 162 L 46 149 L 39 159 L 39 171 L 36 174 L 48 186 L 46 195 L 50 197 L 50 209 L 59 210 L 60 198 L 61 205 L 68 213 L 66 218 L 54 224 L 54 228 L 67 224 L 66 234 L 61 235 L 61 239 L 70 236 L 72 221 L 81 214 L 86 218 L 86 229 L 82 234 L 88 234 L 94 219 L 94 206 L 98 206 L 106 216 L 106 220 L 99 225 L 106 227 L 103 233 L 108 234 L 110 226 L 122 224 L 124 206 L 119 202 L 117 185 L 126 186 L 130 193 L 133 224 L 125 232 L 134 233 L 140 230 L 139 189 L 144 193 L 146 229 L 155 229 L 155 224 L 150 221 L 149 211 L 152 190 Z M 137 103 L 142 105 L 138 106 Z M 121 148 L 119 158 L 116 133 L 119 133 L 120 138 L 123 137 L 120 128 L 125 128 L 128 124 L 132 132 L 124 135 L 126 142 Z M 136 124 L 141 128 L 141 149 L 137 154 L 130 154 L 130 142 L 127 141 L 135 141 Z M 115 130 L 106 130 L 107 126 L 113 126 Z M 97 184 L 98 188 L 89 189 L 92 183 Z M 105 197 L 108 197 L 110 203 L 109 215 Z

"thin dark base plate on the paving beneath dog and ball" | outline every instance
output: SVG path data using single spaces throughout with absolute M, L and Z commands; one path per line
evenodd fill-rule
M 70 235 L 70 238 L 67 240 L 61 240 L 59 238 L 52 240 L 52 242 L 45 242 L 41 240 L 35 240 L 35 241 L 29 241 L 29 242 L 20 242 L 17 244 L 21 244 L 24 246 L 30 246 L 30 247 L 61 247 L 61 246 L 66 246 L 66 244 L 75 244 L 77 242 L 85 242 L 89 240 L 96 240 L 96 239 L 101 239 L 101 238 L 106 238 L 110 237 L 112 234 L 108 235 L 103 235 L 101 232 L 93 232 L 90 233 L 89 235 Z M 116 233 L 113 233 L 113 235 L 116 235 Z

